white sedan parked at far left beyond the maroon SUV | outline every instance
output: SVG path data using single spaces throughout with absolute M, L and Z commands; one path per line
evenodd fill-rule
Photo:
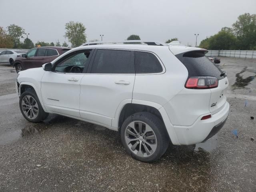
M 24 50 L 5 50 L 0 53 L 0 63 L 10 63 L 13 65 L 15 59 L 26 53 Z

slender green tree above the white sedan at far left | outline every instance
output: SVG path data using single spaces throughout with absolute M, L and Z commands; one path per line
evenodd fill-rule
M 25 33 L 25 30 L 22 27 L 17 26 L 15 24 L 8 26 L 7 29 L 8 34 L 12 38 L 14 43 L 13 48 L 18 48 L 20 44 L 20 38 L 23 38 L 22 35 Z

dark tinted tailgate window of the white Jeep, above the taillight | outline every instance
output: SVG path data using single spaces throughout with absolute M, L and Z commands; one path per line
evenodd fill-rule
M 213 76 L 218 79 L 221 70 L 209 60 L 201 51 L 190 51 L 176 55 L 176 57 L 186 66 L 189 76 Z

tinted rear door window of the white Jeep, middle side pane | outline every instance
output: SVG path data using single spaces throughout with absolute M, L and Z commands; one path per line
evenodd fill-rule
M 96 52 L 91 73 L 132 73 L 132 65 L 134 66 L 132 51 L 99 49 Z

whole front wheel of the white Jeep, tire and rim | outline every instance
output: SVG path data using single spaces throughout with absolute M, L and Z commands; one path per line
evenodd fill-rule
M 38 123 L 48 117 L 34 90 L 26 90 L 20 96 L 20 111 L 26 120 Z

